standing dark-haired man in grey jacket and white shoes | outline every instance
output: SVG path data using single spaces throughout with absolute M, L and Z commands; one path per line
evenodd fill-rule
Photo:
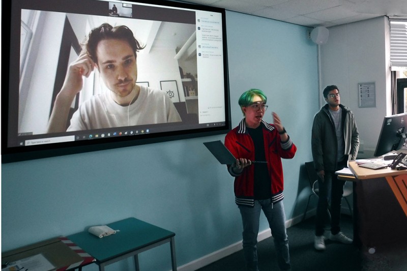
M 329 239 L 351 244 L 353 240 L 340 231 L 340 208 L 344 180 L 335 171 L 356 159 L 359 150 L 359 132 L 352 111 L 340 104 L 339 88 L 329 85 L 323 92 L 327 102 L 316 113 L 312 125 L 311 147 L 314 167 L 318 175 L 318 204 L 316 208 L 314 248 L 325 250 L 324 223 L 331 209 Z

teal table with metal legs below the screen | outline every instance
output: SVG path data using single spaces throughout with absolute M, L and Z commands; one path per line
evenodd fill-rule
M 134 257 L 135 269 L 138 271 L 138 254 L 167 242 L 171 249 L 172 270 L 177 270 L 175 233 L 135 218 L 113 222 L 107 226 L 120 231 L 102 238 L 88 231 L 67 236 L 96 259 L 100 271 L 104 271 L 106 265 L 131 256 Z

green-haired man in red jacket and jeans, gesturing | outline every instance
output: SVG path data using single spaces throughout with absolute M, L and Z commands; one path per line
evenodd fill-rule
M 235 177 L 235 202 L 243 222 L 243 252 L 248 270 L 258 270 L 257 234 L 263 210 L 277 252 L 281 270 L 291 268 L 283 205 L 281 158 L 292 159 L 297 147 L 288 136 L 280 117 L 272 112 L 273 124 L 263 120 L 267 96 L 249 89 L 239 99 L 244 118 L 225 137 L 225 146 L 237 158 L 227 165 Z

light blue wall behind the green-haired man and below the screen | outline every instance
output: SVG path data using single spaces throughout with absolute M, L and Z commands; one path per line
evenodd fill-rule
M 240 94 L 263 89 L 270 105 L 266 121 L 276 111 L 298 147 L 296 157 L 283 162 L 284 204 L 287 219 L 300 216 L 309 195 L 300 167 L 311 159 L 318 110 L 316 45 L 305 27 L 226 15 L 232 125 L 242 117 Z M 233 179 L 202 144 L 218 139 L 224 135 L 3 164 L 2 251 L 127 217 L 175 232 L 178 265 L 239 242 Z M 170 269 L 168 250 L 142 253 L 141 269 Z

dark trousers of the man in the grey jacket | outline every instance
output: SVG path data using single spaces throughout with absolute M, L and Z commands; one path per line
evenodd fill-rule
M 338 163 L 337 170 L 346 166 L 346 161 Z M 328 219 L 328 206 L 331 210 L 331 233 L 340 231 L 340 208 L 342 203 L 344 180 L 337 178 L 335 171 L 325 171 L 324 182 L 318 177 L 318 205 L 316 207 L 315 235 L 324 234 L 324 224 Z M 329 204 L 330 203 L 330 204 Z

